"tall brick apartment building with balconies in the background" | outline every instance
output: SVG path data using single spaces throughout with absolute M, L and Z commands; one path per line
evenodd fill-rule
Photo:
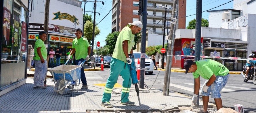
M 138 15 L 139 0 L 113 0 L 112 7 L 112 32 L 121 31 L 128 23 L 140 20 L 142 16 Z M 173 0 L 148 0 L 147 3 L 147 29 L 154 31 L 157 34 L 163 35 L 165 8 L 159 7 L 163 5 L 168 7 L 169 13 L 167 12 L 166 17 L 171 17 L 173 10 Z M 186 16 L 186 0 L 179 0 L 178 7 L 182 7 L 179 10 L 178 17 Z M 168 11 L 167 10 L 167 11 Z M 166 31 L 169 31 L 170 21 L 166 20 Z M 177 21 L 177 29 L 186 28 L 186 18 L 180 18 Z

